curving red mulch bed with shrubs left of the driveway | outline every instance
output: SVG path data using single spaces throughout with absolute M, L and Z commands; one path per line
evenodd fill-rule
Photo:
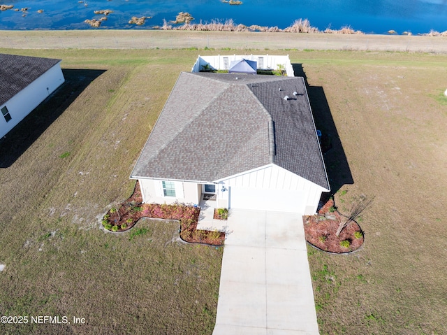
M 197 229 L 199 215 L 200 207 L 180 204 L 142 204 L 140 184 L 137 181 L 131 197 L 116 208 L 111 208 L 104 216 L 103 226 L 110 231 L 126 231 L 131 229 L 140 218 L 179 220 L 180 237 L 184 241 L 223 245 L 225 233 Z

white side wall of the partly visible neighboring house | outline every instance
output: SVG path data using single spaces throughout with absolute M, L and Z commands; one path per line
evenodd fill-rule
M 8 108 L 11 120 L 6 122 L 3 115 L 0 114 L 0 138 L 8 134 L 11 129 L 52 94 L 57 87 L 62 85 L 64 81 L 64 74 L 62 73 L 60 63 L 58 63 L 9 99 L 6 104 L 1 105 L 0 109 L 4 106 Z

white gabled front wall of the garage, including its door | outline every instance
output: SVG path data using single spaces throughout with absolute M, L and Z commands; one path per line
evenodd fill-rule
M 229 188 L 230 208 L 316 213 L 323 187 L 271 164 L 221 180 Z

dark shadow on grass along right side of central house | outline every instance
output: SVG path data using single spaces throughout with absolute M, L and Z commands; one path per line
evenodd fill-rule
M 305 79 L 316 129 L 322 133 L 321 150 L 323 151 L 324 163 L 328 172 L 330 192 L 335 194 L 343 185 L 354 183 L 342 141 L 340 141 L 337 127 L 335 127 L 334 119 L 330 113 L 323 87 L 309 86 L 302 64 L 292 64 L 292 66 L 295 76 Z

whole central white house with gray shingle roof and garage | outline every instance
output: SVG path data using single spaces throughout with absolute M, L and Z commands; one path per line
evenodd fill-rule
M 301 77 L 180 73 L 130 178 L 146 203 L 312 215 L 330 190 Z

